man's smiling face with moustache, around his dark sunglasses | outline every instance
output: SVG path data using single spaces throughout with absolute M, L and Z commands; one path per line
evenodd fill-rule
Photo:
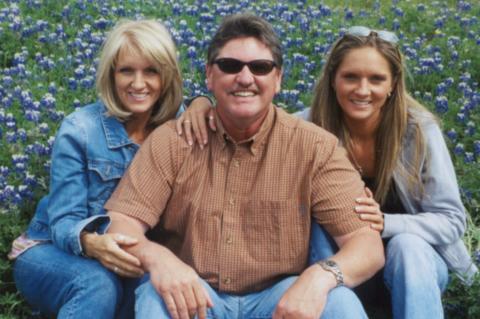
M 243 62 L 273 61 L 270 49 L 253 37 L 228 41 L 216 60 L 221 58 L 234 58 Z M 208 89 L 215 95 L 217 112 L 227 125 L 230 122 L 236 126 L 248 126 L 256 120 L 263 120 L 273 97 L 280 91 L 282 71 L 277 67 L 265 75 L 256 75 L 245 65 L 238 73 L 228 74 L 214 63 L 207 65 L 206 71 Z

